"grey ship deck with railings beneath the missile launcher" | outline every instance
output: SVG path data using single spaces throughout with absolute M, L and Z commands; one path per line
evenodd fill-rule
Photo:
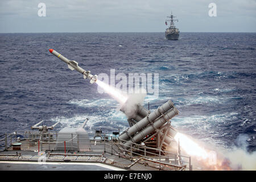
M 0 170 L 176 171 L 192 167 L 190 163 L 185 165 L 185 160 L 181 162 L 180 156 L 176 158 L 176 154 L 162 155 L 164 151 L 158 150 L 157 155 L 149 147 L 144 146 L 142 151 L 139 151 L 142 146 L 125 150 L 118 140 L 109 139 L 105 135 L 101 135 L 101 139 L 90 137 L 87 143 L 80 140 L 77 142 L 75 139 L 71 143 L 58 142 L 53 133 L 33 135 L 34 137 L 29 135 L 19 140 L 15 134 L 9 134 L 5 135 L 5 140 L 0 140 L 5 142 L 5 149 L 0 152 Z M 79 138 L 82 136 L 79 135 Z

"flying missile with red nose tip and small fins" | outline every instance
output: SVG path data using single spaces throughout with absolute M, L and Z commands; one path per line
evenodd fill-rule
M 57 52 L 53 49 L 49 49 L 49 52 L 51 52 L 53 55 L 55 55 L 60 60 L 62 60 L 64 63 L 66 63 L 68 65 L 68 68 L 71 69 L 72 71 L 74 69 L 76 69 L 76 71 L 78 71 L 79 73 L 82 73 L 82 75 L 84 75 L 84 79 L 88 78 L 90 80 L 91 84 L 93 84 L 94 82 L 97 81 L 97 75 L 92 75 L 92 74 L 90 74 L 90 71 L 85 71 L 84 69 L 79 67 L 79 65 L 76 61 L 68 60 L 66 57 L 64 57 L 59 52 Z

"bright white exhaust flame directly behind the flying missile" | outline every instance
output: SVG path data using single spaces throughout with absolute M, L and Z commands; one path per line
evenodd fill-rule
M 118 101 L 119 104 L 123 105 L 127 101 L 128 97 L 124 96 L 121 91 L 113 88 L 112 86 L 105 84 L 100 80 L 96 80 L 96 84 L 105 90 L 114 100 Z

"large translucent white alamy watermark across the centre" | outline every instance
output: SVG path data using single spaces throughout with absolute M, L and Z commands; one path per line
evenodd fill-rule
M 125 94 L 147 93 L 155 97 L 159 96 L 159 73 L 129 73 L 127 75 L 118 73 L 115 75 L 115 69 L 110 69 L 110 77 L 106 73 L 100 73 L 98 80 Z M 105 93 L 100 86 L 98 86 L 98 93 Z

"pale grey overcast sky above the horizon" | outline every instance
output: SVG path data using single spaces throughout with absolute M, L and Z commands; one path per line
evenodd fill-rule
M 256 0 L 0 0 L 0 33 L 163 32 L 171 11 L 180 32 L 256 32 Z

